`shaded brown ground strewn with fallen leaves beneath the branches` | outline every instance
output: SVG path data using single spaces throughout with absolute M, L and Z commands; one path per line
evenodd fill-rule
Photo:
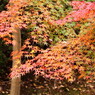
M 11 82 L 0 80 L 0 95 L 9 95 Z M 27 75 L 22 78 L 20 95 L 95 95 L 95 83 L 68 83 Z

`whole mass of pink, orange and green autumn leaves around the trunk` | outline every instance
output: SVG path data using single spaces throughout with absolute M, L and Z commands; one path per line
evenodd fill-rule
M 93 81 L 95 79 L 95 2 L 69 2 L 72 9 L 66 11 L 66 16 L 62 17 L 64 11 L 58 11 L 60 15 L 57 16 L 56 10 L 60 9 L 52 3 L 48 5 L 46 2 L 43 5 L 40 1 L 37 4 L 36 1 L 29 2 L 10 0 L 7 5 L 8 11 L 0 13 L 0 37 L 6 44 L 12 44 L 12 32 L 17 32 L 14 27 L 28 30 L 22 52 L 19 53 L 27 59 L 20 67 L 12 69 L 11 77 L 25 75 L 32 70 L 35 75 L 49 79 L 66 79 L 70 82 L 77 79 Z M 59 5 L 57 2 L 57 6 Z M 11 6 L 15 7 L 12 9 Z M 52 13 L 53 7 L 56 10 Z M 64 7 L 60 5 L 60 8 Z M 65 35 L 66 33 L 68 34 Z M 29 57 L 31 59 L 28 59 Z

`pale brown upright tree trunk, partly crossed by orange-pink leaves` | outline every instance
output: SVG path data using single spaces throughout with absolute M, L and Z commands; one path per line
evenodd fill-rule
M 13 32 L 13 68 L 19 67 L 21 64 L 21 56 L 18 58 L 15 58 L 18 56 L 18 54 L 21 51 L 21 32 L 18 27 L 14 28 L 17 32 Z M 20 95 L 20 84 L 21 84 L 21 77 L 12 78 L 11 80 L 11 91 L 10 95 Z

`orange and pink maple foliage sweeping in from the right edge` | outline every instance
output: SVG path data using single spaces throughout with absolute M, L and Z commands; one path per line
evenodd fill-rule
M 80 6 L 81 4 L 82 6 Z M 75 77 L 77 71 L 79 79 L 90 80 L 89 78 L 91 78 L 93 80 L 95 78 L 95 54 L 93 53 L 95 50 L 95 3 L 72 1 L 70 5 L 73 6 L 74 11 L 63 20 L 54 22 L 58 25 L 63 25 L 66 22 L 79 21 L 79 25 L 76 24 L 74 26 L 78 27 L 81 25 L 79 36 L 42 51 L 42 54 L 39 54 L 33 60 L 26 61 L 26 64 L 20 66 L 18 69 L 14 68 L 12 76 L 24 75 L 30 70 L 34 70 L 36 75 L 46 78 L 61 80 L 65 78 L 68 81 L 74 81 L 77 78 Z M 88 12 L 89 15 L 87 15 Z M 52 23 L 54 24 L 54 22 Z M 87 25 L 83 23 L 87 23 Z

